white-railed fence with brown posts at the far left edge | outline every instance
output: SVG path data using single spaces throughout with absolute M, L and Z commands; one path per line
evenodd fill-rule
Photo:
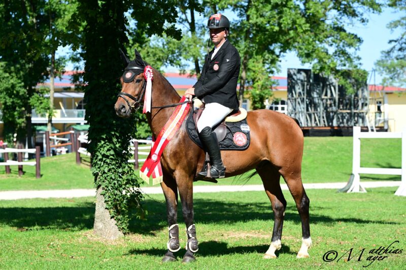
M 15 148 L 5 148 L 0 149 L 0 153 L 4 154 L 4 162 L 0 162 L 0 166 L 6 166 L 6 174 L 10 174 L 11 170 L 9 166 L 18 166 L 18 175 L 21 176 L 23 174 L 23 165 L 26 166 L 36 166 L 36 177 L 41 177 L 41 167 L 40 167 L 40 147 L 37 146 L 35 149 L 15 149 Z M 9 160 L 9 153 L 19 153 L 18 161 Z M 35 153 L 36 154 L 36 161 L 22 161 L 22 153 Z

